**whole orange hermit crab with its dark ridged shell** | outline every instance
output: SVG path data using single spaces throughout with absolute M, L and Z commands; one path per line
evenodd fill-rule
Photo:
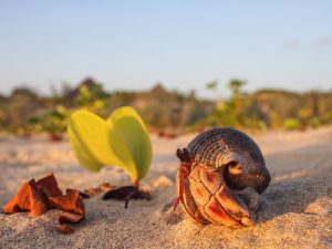
M 177 149 L 179 203 L 198 224 L 239 228 L 257 222 L 258 197 L 271 177 L 258 145 L 235 128 L 211 128 Z

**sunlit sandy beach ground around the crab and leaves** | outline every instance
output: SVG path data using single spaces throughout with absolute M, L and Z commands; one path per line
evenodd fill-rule
M 153 199 L 133 200 L 124 209 L 118 200 L 100 196 L 84 200 L 86 218 L 62 235 L 51 221 L 56 210 L 38 218 L 0 214 L 0 248 L 332 248 L 332 128 L 253 134 L 261 147 L 272 183 L 260 196 L 259 222 L 230 229 L 196 226 L 181 207 L 172 212 L 176 197 L 175 149 L 194 135 L 173 141 L 153 136 L 152 170 L 142 180 Z M 120 169 L 101 173 L 81 168 L 66 141 L 43 136 L 0 137 L 0 206 L 20 185 L 53 172 L 62 189 L 85 189 L 104 181 L 125 185 Z

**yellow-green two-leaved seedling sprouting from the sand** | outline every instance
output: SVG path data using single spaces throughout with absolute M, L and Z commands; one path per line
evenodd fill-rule
M 148 132 L 136 111 L 129 106 L 115 110 L 104 121 L 90 111 L 72 114 L 69 138 L 81 165 L 92 172 L 104 166 L 118 166 L 138 187 L 152 162 Z

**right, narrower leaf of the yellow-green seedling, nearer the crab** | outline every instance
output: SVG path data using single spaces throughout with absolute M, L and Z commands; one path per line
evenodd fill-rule
M 124 106 L 115 110 L 107 123 L 120 134 L 134 159 L 138 179 L 143 178 L 152 163 L 152 143 L 142 118 L 137 112 Z

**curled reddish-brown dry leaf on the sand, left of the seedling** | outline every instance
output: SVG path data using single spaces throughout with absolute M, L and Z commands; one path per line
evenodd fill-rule
M 73 229 L 64 222 L 79 222 L 84 219 L 84 204 L 80 191 L 68 189 L 63 195 L 53 174 L 40 180 L 25 181 L 18 194 L 3 207 L 4 214 L 30 211 L 33 217 L 43 215 L 50 209 L 62 210 L 56 230 L 71 234 Z

